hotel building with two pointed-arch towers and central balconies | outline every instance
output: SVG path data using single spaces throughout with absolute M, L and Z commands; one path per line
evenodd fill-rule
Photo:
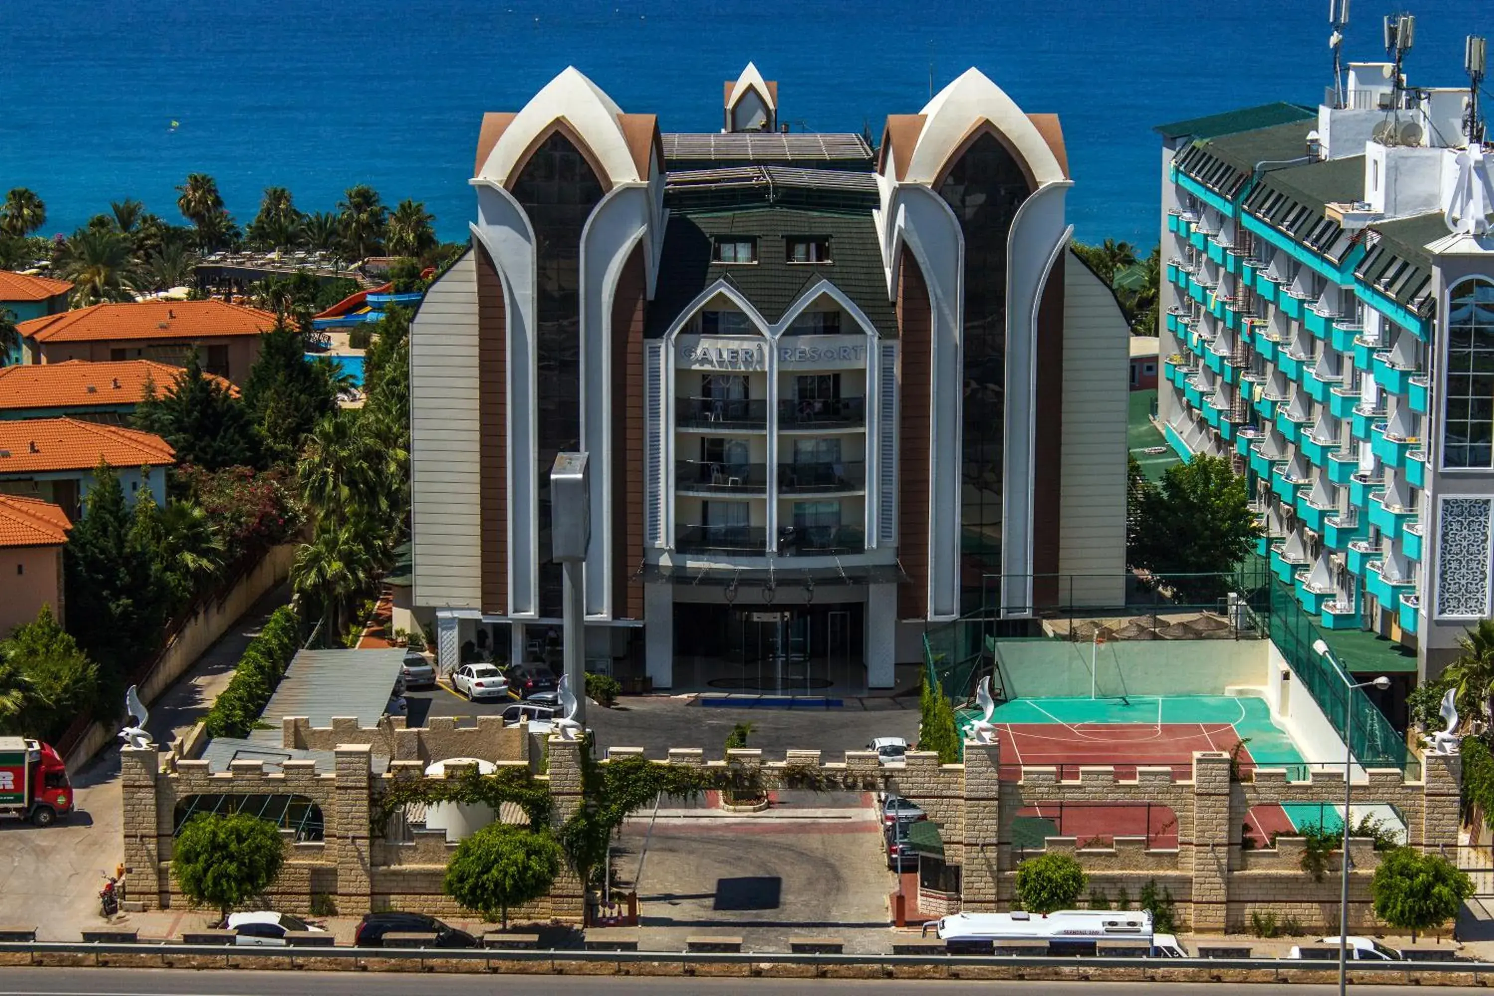
M 548 472 L 590 454 L 589 669 L 892 687 L 999 597 L 1118 605 L 1126 324 L 1068 249 L 1053 115 L 970 70 L 862 134 L 748 66 L 666 133 L 568 69 L 489 113 L 472 249 L 411 330 L 414 612 L 553 650 Z

